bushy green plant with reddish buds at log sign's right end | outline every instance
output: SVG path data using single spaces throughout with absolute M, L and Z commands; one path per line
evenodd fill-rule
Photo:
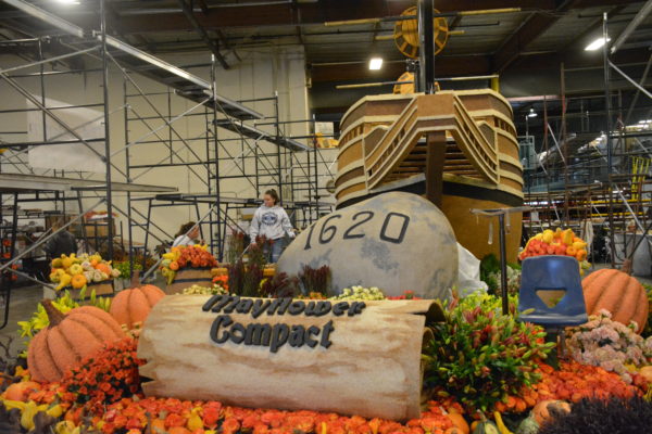
M 472 410 L 487 411 L 539 381 L 537 361 L 554 344 L 540 327 L 500 314 L 500 299 L 474 294 L 454 298 L 425 348 L 426 387 L 453 395 Z

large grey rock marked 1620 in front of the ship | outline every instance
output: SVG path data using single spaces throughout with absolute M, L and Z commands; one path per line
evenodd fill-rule
M 278 271 L 328 265 L 331 293 L 377 286 L 387 295 L 414 291 L 448 298 L 457 277 L 457 244 L 437 206 L 411 193 L 385 193 L 339 209 L 305 229 L 286 248 Z

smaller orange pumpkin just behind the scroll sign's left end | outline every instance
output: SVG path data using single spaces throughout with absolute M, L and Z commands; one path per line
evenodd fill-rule
M 145 284 L 138 286 L 138 272 L 134 273 L 131 289 L 121 291 L 111 303 L 111 315 L 118 324 L 134 329 L 137 322 L 145 322 L 150 310 L 165 293 L 158 286 Z

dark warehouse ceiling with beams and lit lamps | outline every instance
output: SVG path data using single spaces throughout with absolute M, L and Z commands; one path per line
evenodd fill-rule
M 86 29 L 99 28 L 99 1 L 77 1 L 79 4 L 62 4 L 61 0 L 30 2 Z M 414 0 L 106 1 L 110 33 L 158 55 L 211 50 L 223 67 L 236 67 L 238 50 L 303 46 L 313 107 L 326 116 L 341 114 L 361 95 L 390 91 L 390 87 L 335 89 L 338 85 L 396 80 L 405 71 L 405 58 L 391 36 L 396 17 L 415 4 Z M 604 86 L 602 55 L 600 50 L 584 48 L 601 35 L 603 13 L 607 13 L 613 39 L 643 4 L 624 0 L 436 0 L 435 7 L 444 14 L 452 31 L 436 58 L 436 75 L 500 74 L 502 92 L 522 99 L 514 102 L 517 119 L 532 107 L 541 110 L 541 102 L 528 97 L 561 93 L 562 65 L 567 71 L 565 92 L 590 99 L 599 95 Z M 498 9 L 504 11 L 496 13 Z M 0 2 L 1 37 L 55 34 L 47 24 Z M 651 44 L 649 15 L 613 61 L 634 77 L 640 77 L 650 59 Z M 49 47 L 55 51 L 58 46 Z M 0 53 L 8 50 L 16 48 L 0 44 Z M 372 54 L 384 58 L 380 71 L 368 69 Z M 611 86 L 616 90 L 632 89 L 622 79 L 614 79 Z M 625 99 L 629 97 L 626 94 Z M 591 101 L 586 104 L 590 106 Z M 592 104 L 601 110 L 600 101 Z M 552 102 L 551 116 L 559 115 L 560 107 Z

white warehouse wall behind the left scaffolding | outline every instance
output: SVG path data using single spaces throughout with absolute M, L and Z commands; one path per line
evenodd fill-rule
M 239 50 L 238 54 L 242 59 L 241 62 L 236 62 L 231 58 L 233 68 L 224 71 L 218 68 L 217 73 L 217 91 L 220 94 L 228 97 L 234 100 L 243 99 L 258 99 L 273 97 L 275 91 L 278 92 L 279 101 L 279 118 L 280 120 L 294 120 L 294 119 L 308 119 L 309 118 L 309 106 L 308 95 L 305 87 L 305 58 L 303 48 L 297 47 L 284 47 L 262 50 L 243 51 Z M 209 63 L 210 55 L 202 53 L 192 53 L 185 55 L 174 55 L 165 59 L 170 63 L 176 65 Z M 15 64 L 23 64 L 24 61 L 17 58 L 0 56 L 0 68 L 7 68 Z M 37 72 L 37 68 L 24 69 L 24 72 Z M 202 78 L 210 79 L 210 68 L 191 68 L 189 69 L 192 74 L 198 75 Z M 16 73 L 17 74 L 17 73 Z M 134 76 L 138 86 L 145 92 L 166 92 L 166 88 L 158 82 L 147 79 L 141 76 Z M 27 88 L 34 94 L 40 94 L 40 81 L 37 77 L 29 78 L 17 78 L 20 84 Z M 58 75 L 48 76 L 46 78 L 46 95 L 48 98 L 57 99 L 62 102 L 70 104 L 89 104 L 98 103 L 102 101 L 102 86 L 101 86 L 101 74 L 100 73 L 85 73 L 76 75 Z M 115 110 L 124 104 L 124 91 L 123 91 L 123 76 L 117 68 L 111 68 L 110 86 L 109 86 L 109 106 L 110 110 Z M 136 93 L 135 88 L 128 88 L 128 93 Z M 26 106 L 25 98 L 13 90 L 7 82 L 0 80 L 0 110 L 14 110 Z M 154 103 L 156 108 L 164 115 L 168 114 L 168 97 L 166 94 L 150 97 L 150 100 Z M 188 108 L 192 107 L 196 103 L 183 99 L 180 97 L 172 95 L 172 116 L 176 116 Z M 140 116 L 153 116 L 154 110 L 149 106 L 143 99 L 129 99 L 130 111 L 128 116 L 134 117 L 137 113 Z M 248 102 L 244 105 L 254 108 L 266 116 L 274 114 L 273 101 L 266 102 Z M 101 107 L 98 107 L 101 111 Z M 203 107 L 200 107 L 197 113 L 203 113 Z M 65 112 L 58 112 L 60 116 L 65 118 Z M 7 141 L 18 141 L 25 140 L 22 136 L 7 136 L 2 135 L 2 131 L 16 131 L 26 130 L 26 115 L 25 113 L 17 114 L 0 114 L 0 139 Z M 125 137 L 125 112 L 118 110 L 116 113 L 111 115 L 111 149 L 112 152 L 117 150 L 124 150 L 126 143 Z M 271 120 L 271 119 L 269 119 Z M 151 127 L 158 127 L 162 125 L 160 119 L 147 120 Z M 205 137 L 206 122 L 204 116 L 188 116 L 173 124 L 174 129 L 184 139 L 195 137 Z M 273 126 L 256 126 L 260 129 L 273 132 Z M 308 135 L 308 124 L 287 124 L 284 126 L 285 133 L 287 136 L 305 136 Z M 140 122 L 130 122 L 128 129 L 128 140 L 130 142 L 143 137 L 148 133 L 149 128 Z M 161 138 L 167 139 L 172 131 L 168 128 L 163 128 L 158 132 Z M 218 138 L 228 139 L 235 137 L 230 131 L 224 129 L 218 130 Z M 176 139 L 173 133 L 173 138 Z M 150 136 L 146 140 L 153 140 L 155 136 Z M 305 140 L 301 140 L 304 143 Z M 255 143 L 249 140 L 249 143 L 254 148 Z M 200 158 L 206 157 L 206 145 L 205 140 L 188 141 L 191 150 L 197 153 Z M 259 143 L 259 150 L 261 152 L 275 152 L 276 146 L 264 142 Z M 241 155 L 242 149 L 247 153 L 249 148 L 239 141 L 225 142 L 225 146 L 231 153 L 231 155 Z M 177 152 L 181 158 L 186 161 L 196 159 L 192 156 L 192 151 L 188 150 L 184 143 L 175 142 L 173 150 Z M 170 155 L 170 150 L 164 144 L 135 144 L 129 149 L 129 156 L 131 164 L 155 164 L 159 163 L 166 155 Z M 225 157 L 226 154 L 221 152 L 221 156 Z M 209 157 L 213 157 L 210 155 Z M 301 155 L 300 158 L 304 158 Z M 124 170 L 125 168 L 125 152 L 121 152 L 112 158 L 113 163 Z M 173 158 L 174 162 L 178 162 L 178 158 Z M 166 159 L 170 162 L 170 158 Z M 260 158 L 259 163 L 266 165 L 276 165 L 276 158 L 266 161 Z M 15 171 L 11 166 L 2 165 L 4 171 Z M 83 170 L 83 168 L 80 168 Z M 224 162 L 221 167 L 221 176 L 238 175 L 240 171 L 236 168 L 233 162 Z M 246 162 L 246 170 L 252 174 L 254 170 L 254 161 L 249 158 Z M 154 186 L 170 186 L 177 188 L 180 192 L 205 192 L 206 187 L 204 181 L 208 181 L 208 173 L 201 165 L 190 167 L 160 167 L 142 174 L 145 169 L 133 170 L 131 178 L 136 178 L 135 182 L 148 183 Z M 193 171 L 197 174 L 195 175 Z M 324 173 L 324 168 L 321 168 Z M 38 174 L 39 171 L 37 171 Z M 287 175 L 287 174 L 286 174 Z M 74 175 L 66 175 L 74 176 Z M 86 174 L 88 176 L 88 174 Z M 116 170 L 112 171 L 113 181 L 125 181 L 125 178 L 120 175 Z M 95 179 L 101 179 L 102 176 L 95 175 Z M 269 181 L 271 179 L 267 178 Z M 327 179 L 322 179 L 322 183 L 325 183 Z M 214 181 L 212 181 L 214 183 Z M 239 197 L 253 197 L 256 195 L 255 190 L 252 188 L 250 182 L 246 179 L 233 179 L 224 180 L 221 182 L 222 195 L 224 196 L 239 196 Z M 265 187 L 261 187 L 262 190 Z M 145 194 L 151 196 L 151 194 Z M 138 196 L 138 195 L 134 195 Z M 143 194 L 140 194 L 143 196 Z M 95 200 L 85 200 L 84 206 L 89 206 Z M 126 212 L 126 194 L 114 193 L 114 203 L 117 208 Z M 26 204 L 25 207 L 28 205 Z M 48 208 L 48 204 L 40 203 L 34 207 Z M 147 212 L 146 202 L 136 204 L 135 207 L 140 209 L 143 214 Z M 208 206 L 201 207 L 201 213 L 208 209 Z M 142 220 L 141 218 L 139 218 Z M 152 221 L 159 225 L 167 233 L 174 234 L 179 225 L 189 220 L 196 219 L 196 210 L 190 206 L 177 206 L 177 207 L 165 207 L 156 208 L 152 215 Z M 123 221 L 126 228 L 126 219 L 122 216 L 118 219 Z M 160 235 L 162 233 L 159 232 Z M 136 231 L 135 239 L 140 240 L 143 238 L 142 232 Z M 163 237 L 165 238 L 165 237 Z

